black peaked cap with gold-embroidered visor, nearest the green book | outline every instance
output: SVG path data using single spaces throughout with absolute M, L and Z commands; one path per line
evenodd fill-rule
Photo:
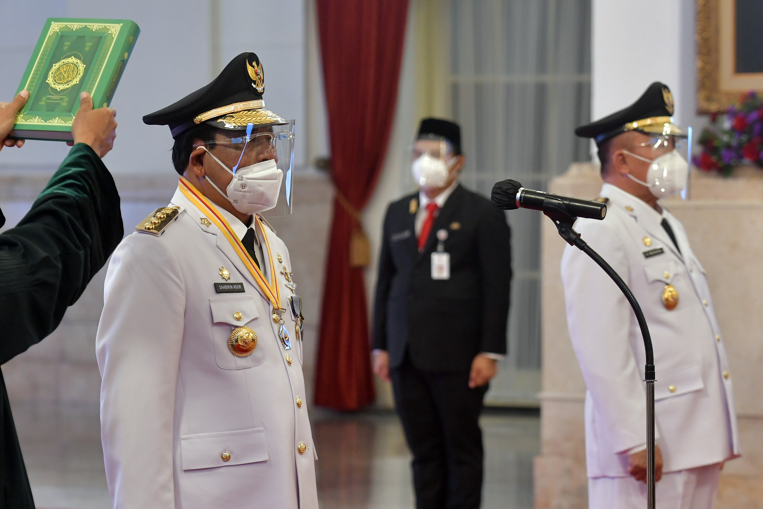
M 172 137 L 206 122 L 219 129 L 243 130 L 285 124 L 265 108 L 265 74 L 255 53 L 241 53 L 210 84 L 143 117 L 143 124 L 169 125 Z

